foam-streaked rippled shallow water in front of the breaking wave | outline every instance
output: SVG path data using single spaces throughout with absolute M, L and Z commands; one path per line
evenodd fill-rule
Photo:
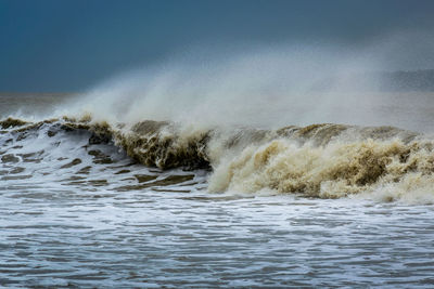
M 2 286 L 434 285 L 431 206 L 209 195 L 201 173 L 119 191 L 101 174 L 2 182 Z

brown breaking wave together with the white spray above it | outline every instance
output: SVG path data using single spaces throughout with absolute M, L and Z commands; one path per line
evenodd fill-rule
M 431 130 L 431 113 L 418 113 L 431 111 L 432 94 L 381 91 L 386 67 L 366 52 L 283 45 L 195 55 L 111 79 L 53 111 L 68 117 L 2 127 L 14 144 L 62 131 L 148 167 L 210 170 L 209 192 L 431 196 L 433 142 L 420 133 Z

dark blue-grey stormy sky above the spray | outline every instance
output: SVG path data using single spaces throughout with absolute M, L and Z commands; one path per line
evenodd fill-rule
M 0 0 L 0 91 L 80 91 L 197 47 L 426 38 L 433 15 L 430 0 Z M 407 63 L 434 64 L 407 42 Z

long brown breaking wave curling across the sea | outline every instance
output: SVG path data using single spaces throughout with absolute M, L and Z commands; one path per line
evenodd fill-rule
M 152 120 L 108 124 L 90 116 L 0 121 L 2 133 L 14 135 L 14 145 L 42 126 L 48 127 L 47 137 L 59 131 L 87 133 L 89 144 L 113 144 L 149 167 L 212 170 L 209 192 L 434 200 L 434 141 L 393 127 L 321 123 L 279 130 L 203 129 Z

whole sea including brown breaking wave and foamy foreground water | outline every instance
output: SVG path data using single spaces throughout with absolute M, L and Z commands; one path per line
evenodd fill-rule
M 432 96 L 219 126 L 202 105 L 2 94 L 0 285 L 432 288 Z

